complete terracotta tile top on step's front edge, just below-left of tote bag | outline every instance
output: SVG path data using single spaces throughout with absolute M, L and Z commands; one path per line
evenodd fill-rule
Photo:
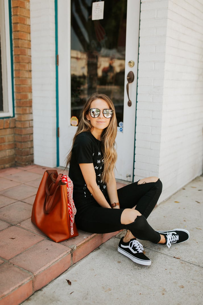
M 70 253 L 71 249 L 45 239 L 37 245 L 12 258 L 10 262 L 22 267 L 34 275 Z

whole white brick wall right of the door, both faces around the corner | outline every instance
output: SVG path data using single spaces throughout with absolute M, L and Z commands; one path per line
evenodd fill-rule
M 141 3 L 135 180 L 166 199 L 203 168 L 203 3 Z

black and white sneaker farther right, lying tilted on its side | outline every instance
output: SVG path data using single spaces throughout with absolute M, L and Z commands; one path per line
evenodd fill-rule
M 190 233 L 184 229 L 173 229 L 170 231 L 157 231 L 165 236 L 165 245 L 170 248 L 171 244 L 180 244 L 190 238 Z

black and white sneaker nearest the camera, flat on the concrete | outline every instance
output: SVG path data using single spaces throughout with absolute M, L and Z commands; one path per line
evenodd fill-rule
M 129 257 L 137 264 L 149 266 L 151 265 L 151 260 L 145 256 L 142 252 L 143 250 L 142 244 L 136 239 L 131 239 L 129 242 L 123 242 L 122 237 L 118 245 L 118 252 Z

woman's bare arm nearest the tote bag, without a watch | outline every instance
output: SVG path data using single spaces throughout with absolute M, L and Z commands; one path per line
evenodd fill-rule
M 80 163 L 79 167 L 82 171 L 82 176 L 85 179 L 87 188 L 89 192 L 92 194 L 94 199 L 100 206 L 103 208 L 111 208 L 105 197 L 103 196 L 102 191 L 96 184 L 96 174 L 94 170 L 93 163 Z

